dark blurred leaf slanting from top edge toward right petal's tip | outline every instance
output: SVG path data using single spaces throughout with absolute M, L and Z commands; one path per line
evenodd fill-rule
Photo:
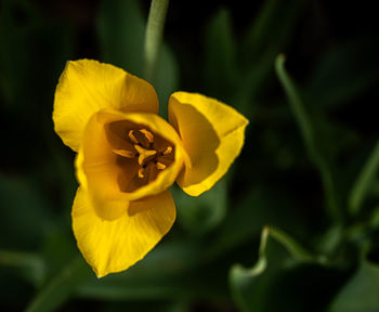
M 252 20 L 240 44 L 239 66 L 244 76 L 235 96 L 236 106 L 248 118 L 254 113 L 251 105 L 267 82 L 276 55 L 290 43 L 306 2 L 267 0 Z

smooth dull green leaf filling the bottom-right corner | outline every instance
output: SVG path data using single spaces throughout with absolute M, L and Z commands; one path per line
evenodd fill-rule
M 379 311 L 379 266 L 363 261 L 331 303 L 330 312 Z

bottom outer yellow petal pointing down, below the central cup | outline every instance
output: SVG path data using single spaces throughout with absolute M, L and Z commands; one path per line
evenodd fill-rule
M 89 194 L 79 187 L 71 216 L 78 247 L 102 277 L 127 270 L 145 257 L 171 229 L 175 206 L 170 192 L 166 191 L 131 203 L 120 218 L 107 221 L 99 218 Z

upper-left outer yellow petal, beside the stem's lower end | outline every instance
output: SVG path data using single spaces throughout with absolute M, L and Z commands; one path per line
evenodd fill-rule
M 90 117 L 103 108 L 158 113 L 152 84 L 121 68 L 92 60 L 68 62 L 55 90 L 55 132 L 74 151 Z

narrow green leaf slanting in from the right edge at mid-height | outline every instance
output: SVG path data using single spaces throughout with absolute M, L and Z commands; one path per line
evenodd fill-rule
M 355 214 L 362 208 L 373 180 L 379 169 L 379 141 L 357 177 L 349 197 L 350 212 Z

